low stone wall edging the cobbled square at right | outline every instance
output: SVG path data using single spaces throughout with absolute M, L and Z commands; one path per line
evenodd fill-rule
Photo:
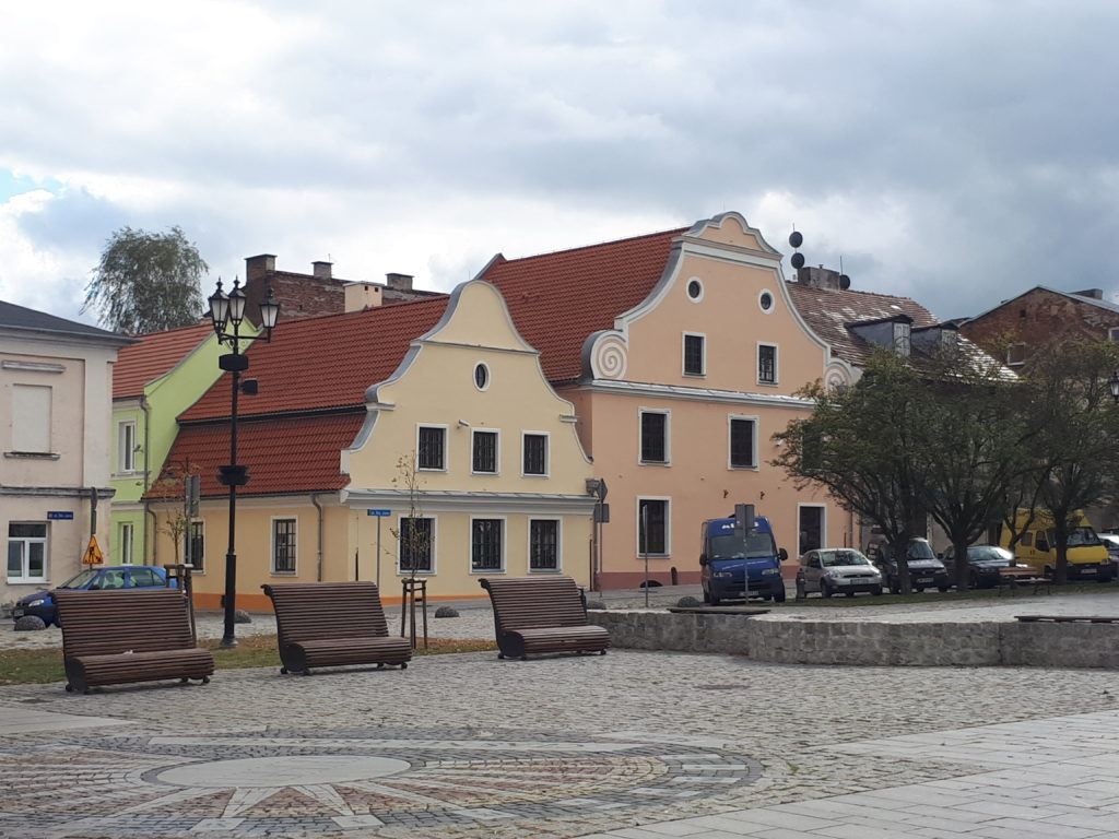
M 611 644 L 724 652 L 786 664 L 1119 668 L 1119 624 L 759 621 L 734 614 L 590 612 Z

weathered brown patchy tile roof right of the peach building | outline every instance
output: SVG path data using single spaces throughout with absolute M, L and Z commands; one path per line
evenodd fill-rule
M 931 327 L 937 317 L 910 298 L 871 291 L 828 291 L 805 283 L 786 283 L 793 305 L 816 334 L 831 345 L 831 355 L 862 365 L 874 346 L 847 329 L 858 321 L 883 320 L 899 314 L 913 319 L 913 328 Z

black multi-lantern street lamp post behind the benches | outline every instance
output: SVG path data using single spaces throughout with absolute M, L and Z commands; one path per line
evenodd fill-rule
M 233 374 L 232 400 L 229 407 L 229 464 L 218 466 L 218 481 L 229 488 L 229 546 L 225 554 L 225 631 L 222 635 L 222 647 L 236 647 L 234 637 L 234 613 L 237 600 L 237 553 L 235 539 L 237 535 L 237 487 L 248 483 L 248 469 L 237 464 L 237 397 L 242 392 L 256 393 L 256 381 L 241 380 L 241 375 L 248 369 L 248 356 L 241 351 L 241 324 L 245 318 L 245 292 L 241 290 L 237 280 L 233 281 L 233 290 L 228 295 L 222 291 L 222 280 L 217 281 L 217 291 L 209 296 L 210 320 L 217 333 L 218 343 L 227 345 L 231 352 L 218 358 L 218 367 Z M 272 340 L 272 330 L 280 317 L 280 304 L 269 289 L 267 298 L 261 303 L 261 326 L 264 328 L 265 340 Z

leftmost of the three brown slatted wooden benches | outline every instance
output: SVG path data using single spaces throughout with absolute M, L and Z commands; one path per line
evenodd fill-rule
M 177 588 L 55 592 L 63 624 L 66 690 L 103 685 L 199 679 L 214 657 L 195 644 L 190 609 Z

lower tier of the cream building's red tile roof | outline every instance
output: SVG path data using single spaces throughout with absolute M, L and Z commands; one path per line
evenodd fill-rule
M 365 411 L 238 423 L 237 461 L 248 466 L 250 477 L 241 491 L 267 496 L 340 490 L 349 480 L 339 470 L 340 452 L 354 442 L 363 422 Z M 217 481 L 218 466 L 228 462 L 228 423 L 179 428 L 167 456 L 167 463 L 189 463 L 201 475 L 206 497 L 228 493 Z

